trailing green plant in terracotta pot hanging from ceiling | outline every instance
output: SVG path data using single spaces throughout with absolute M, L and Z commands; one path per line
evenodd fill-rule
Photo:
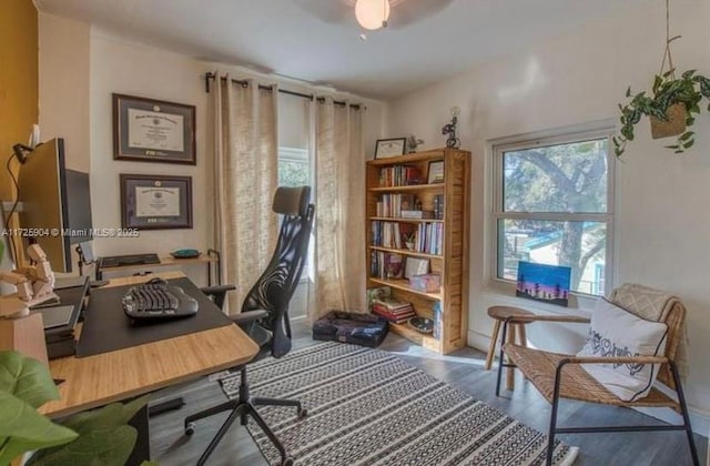
M 693 145 L 696 133 L 690 126 L 700 113 L 702 99 L 710 100 L 710 79 L 698 74 L 696 70 L 688 70 L 679 77 L 676 74 L 670 43 L 679 38 L 680 36 L 670 37 L 669 8 L 666 0 L 666 51 L 661 70 L 653 78 L 650 95 L 647 91 L 633 94 L 631 88 L 627 89 L 626 97 L 630 100 L 623 105 L 619 104 L 620 135 L 612 138 L 617 156 L 623 154 L 627 142 L 633 141 L 635 126 L 643 115 L 651 122 L 653 139 L 677 136 L 676 143 L 666 148 L 681 153 Z M 710 104 L 708 111 L 710 112 Z

